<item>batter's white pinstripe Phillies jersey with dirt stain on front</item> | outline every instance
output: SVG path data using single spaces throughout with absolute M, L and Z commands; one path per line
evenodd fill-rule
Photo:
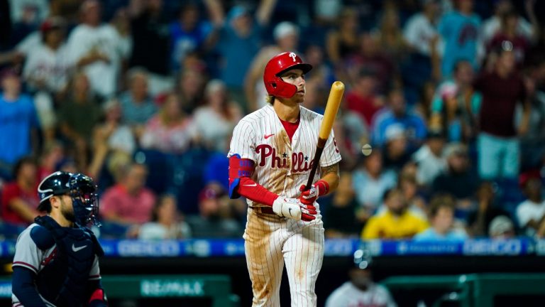
M 304 107 L 300 110 L 299 126 L 291 142 L 272 105 L 246 115 L 233 131 L 228 154 L 229 157 L 238 154 L 241 158 L 253 160 L 253 181 L 287 198 L 296 198 L 301 193 L 299 187 L 307 184 L 323 118 Z M 341 161 L 341 154 L 331 131 L 319 166 L 331 166 L 338 161 Z M 318 168 L 314 182 L 319 178 Z M 248 200 L 248 205 L 259 204 Z

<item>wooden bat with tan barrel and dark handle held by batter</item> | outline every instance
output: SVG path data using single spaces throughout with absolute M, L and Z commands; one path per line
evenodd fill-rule
M 312 186 L 312 181 L 314 181 L 316 169 L 320 164 L 321 153 L 324 151 L 324 146 L 326 145 L 326 141 L 329 138 L 331 129 L 333 128 L 333 122 L 335 121 L 335 117 L 337 116 L 338 106 L 341 104 L 343 93 L 343 82 L 333 82 L 333 84 L 331 85 L 331 92 L 329 92 L 329 97 L 327 98 L 326 110 L 324 111 L 324 119 L 321 120 L 320 132 L 318 134 L 318 144 L 316 144 L 316 153 L 314 154 L 314 160 L 309 174 L 309 181 L 307 181 L 307 185 L 304 187 L 304 190 L 309 190 L 309 188 Z

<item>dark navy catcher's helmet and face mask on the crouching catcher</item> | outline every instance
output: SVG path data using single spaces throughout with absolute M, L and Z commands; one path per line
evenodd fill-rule
M 38 210 L 50 212 L 49 199 L 53 195 L 70 195 L 75 217 L 72 222 L 76 222 L 80 226 L 87 225 L 89 222 L 99 225 L 97 222 L 99 213 L 97 185 L 89 176 L 57 171 L 45 177 L 38 185 L 38 194 L 40 196 Z

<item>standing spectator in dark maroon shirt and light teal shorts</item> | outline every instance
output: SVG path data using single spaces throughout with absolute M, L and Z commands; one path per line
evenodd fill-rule
M 492 72 L 484 72 L 473 83 L 483 95 L 480 107 L 478 136 L 478 169 L 483 179 L 517 178 L 520 146 L 518 135 L 528 131 L 530 104 L 524 80 L 515 68 L 512 45 L 502 44 Z M 515 126 L 517 104 L 524 114 Z

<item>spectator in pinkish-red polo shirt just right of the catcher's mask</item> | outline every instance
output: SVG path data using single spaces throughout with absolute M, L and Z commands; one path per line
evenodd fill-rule
M 145 188 L 148 168 L 139 163 L 120 167 L 116 185 L 104 191 L 100 205 L 104 220 L 123 225 L 143 224 L 150 221 L 155 205 L 155 194 Z

